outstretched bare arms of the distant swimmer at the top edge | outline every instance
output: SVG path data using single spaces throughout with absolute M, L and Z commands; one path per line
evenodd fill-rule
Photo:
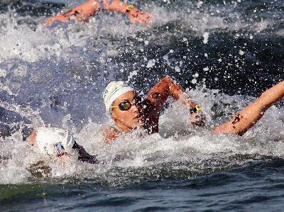
M 129 16 L 132 23 L 149 23 L 153 18 L 151 13 L 143 12 L 133 4 L 126 4 L 121 0 L 89 0 L 70 11 L 49 18 L 45 25 L 50 26 L 55 21 L 68 22 L 72 18 L 87 22 L 89 17 L 94 16 L 99 10 L 125 13 Z

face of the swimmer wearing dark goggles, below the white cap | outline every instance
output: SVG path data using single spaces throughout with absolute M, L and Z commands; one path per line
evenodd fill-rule
M 112 105 L 115 108 L 112 108 L 111 118 L 131 129 L 142 125 L 144 117 L 142 116 L 141 99 L 140 102 L 138 99 L 135 91 L 128 91 L 119 96 Z

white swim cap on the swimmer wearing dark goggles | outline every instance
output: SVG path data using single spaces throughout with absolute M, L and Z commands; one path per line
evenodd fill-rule
M 133 91 L 133 88 L 127 86 L 123 81 L 113 81 L 107 85 L 107 88 L 104 90 L 102 94 L 102 98 L 104 99 L 104 105 L 106 106 L 106 111 L 110 111 L 111 105 L 114 103 L 117 97 L 121 94 L 126 93 L 127 91 Z

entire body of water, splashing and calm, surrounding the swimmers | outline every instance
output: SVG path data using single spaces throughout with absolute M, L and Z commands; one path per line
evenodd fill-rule
M 99 12 L 46 28 L 78 2 L 0 2 L 0 128 L 9 135 L 0 211 L 283 211 L 283 101 L 243 137 L 209 131 L 284 80 L 284 2 L 131 2 L 153 13 L 151 26 Z M 187 108 L 170 101 L 159 135 L 102 145 L 104 87 L 122 79 L 146 94 L 165 75 L 203 106 L 206 128 L 187 125 Z M 67 128 L 107 164 L 45 160 L 21 135 L 43 124 Z

